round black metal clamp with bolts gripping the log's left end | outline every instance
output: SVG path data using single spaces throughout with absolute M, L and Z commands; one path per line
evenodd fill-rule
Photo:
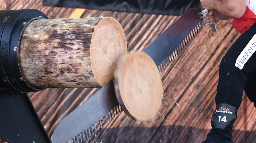
M 48 17 L 36 9 L 0 10 L 0 89 L 12 92 L 35 92 L 26 82 L 19 66 L 19 42 L 26 26 L 35 19 Z

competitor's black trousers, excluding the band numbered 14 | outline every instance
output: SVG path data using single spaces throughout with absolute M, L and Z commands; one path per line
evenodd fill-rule
M 226 103 L 239 110 L 243 91 L 245 91 L 247 97 L 251 102 L 254 102 L 255 106 L 256 52 L 253 52 L 256 51 L 256 43 L 254 41 L 252 45 L 248 44 L 254 34 L 256 34 L 256 23 L 237 39 L 222 58 L 219 66 L 216 104 Z M 251 56 L 249 56 L 250 53 Z M 241 55 L 243 56 L 241 57 Z M 246 63 L 244 64 L 245 61 Z M 241 67 L 242 65 L 244 66 Z M 207 139 L 218 143 L 232 143 L 231 133 L 232 127 L 227 129 L 212 128 L 207 135 Z

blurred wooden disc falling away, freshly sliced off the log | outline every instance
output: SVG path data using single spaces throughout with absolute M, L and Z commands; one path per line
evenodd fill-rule
M 144 52 L 129 52 L 117 60 L 114 87 L 124 112 L 139 121 L 152 119 L 161 107 L 161 77 L 154 61 Z

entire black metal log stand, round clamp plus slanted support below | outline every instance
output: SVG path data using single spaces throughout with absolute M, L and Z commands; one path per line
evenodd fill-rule
M 7 142 L 51 142 L 27 92 L 31 86 L 19 65 L 19 43 L 26 26 L 48 17 L 36 9 L 0 10 L 0 138 Z

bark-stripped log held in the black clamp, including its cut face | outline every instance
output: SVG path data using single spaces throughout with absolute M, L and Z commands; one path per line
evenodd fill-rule
M 100 88 L 126 52 L 125 33 L 112 17 L 38 19 L 23 32 L 19 62 L 37 88 Z

